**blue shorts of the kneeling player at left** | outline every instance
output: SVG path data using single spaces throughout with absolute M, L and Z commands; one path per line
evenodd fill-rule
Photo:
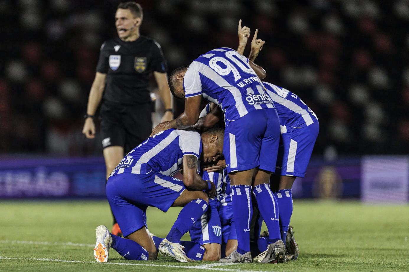
M 160 173 L 117 174 L 108 178 L 106 196 L 124 237 L 146 226 L 146 208 L 166 212 L 185 190 L 183 181 Z

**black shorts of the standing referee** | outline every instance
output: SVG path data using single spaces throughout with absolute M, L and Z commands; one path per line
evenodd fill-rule
M 151 104 L 115 105 L 104 102 L 101 105 L 102 148 L 124 147 L 127 154 L 146 140 L 152 132 Z

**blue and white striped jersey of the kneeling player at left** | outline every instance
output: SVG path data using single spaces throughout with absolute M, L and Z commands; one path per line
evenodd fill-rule
M 160 172 L 173 176 L 182 166 L 184 155 L 197 158 L 202 153 L 202 139 L 194 129 L 167 129 L 135 147 L 115 167 L 111 176 L 121 173 Z

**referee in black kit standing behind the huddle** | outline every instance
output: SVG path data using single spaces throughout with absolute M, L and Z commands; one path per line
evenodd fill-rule
M 152 132 L 151 73 L 165 105 L 161 122 L 173 119 L 173 100 L 167 81 L 167 64 L 160 45 L 141 36 L 142 7 L 135 2 L 119 4 L 115 13 L 118 38 L 101 46 L 97 72 L 88 98 L 87 114 L 82 133 L 95 138 L 94 114 L 101 105 L 101 136 L 106 165 L 106 179 L 134 147 Z M 105 90 L 105 91 L 104 91 Z M 114 217 L 112 234 L 121 230 Z

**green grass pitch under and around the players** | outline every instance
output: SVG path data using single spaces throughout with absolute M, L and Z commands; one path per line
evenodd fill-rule
M 164 256 L 153 262 L 126 261 L 113 249 L 109 264 L 96 263 L 95 227 L 111 226 L 106 201 L 1 201 L 0 207 L 0 271 L 409 271 L 408 206 L 295 201 L 291 223 L 301 250 L 298 261 L 225 266 L 178 263 Z M 166 236 L 179 210 L 164 214 L 149 208 L 149 230 Z M 35 260 L 43 258 L 52 260 Z

